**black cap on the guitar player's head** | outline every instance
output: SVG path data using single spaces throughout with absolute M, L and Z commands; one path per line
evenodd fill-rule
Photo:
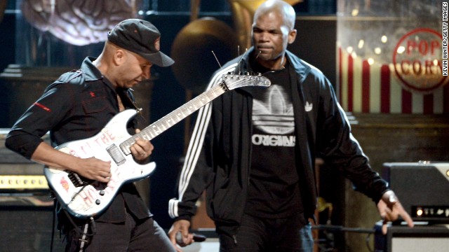
M 119 22 L 107 33 L 107 40 L 137 53 L 158 66 L 170 66 L 175 63 L 173 59 L 159 51 L 161 33 L 146 20 L 128 19 Z

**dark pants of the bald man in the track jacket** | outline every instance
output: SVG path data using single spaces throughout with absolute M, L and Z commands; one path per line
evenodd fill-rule
M 310 223 L 301 215 L 289 218 L 257 218 L 243 215 L 235 237 L 219 233 L 220 252 L 312 252 Z

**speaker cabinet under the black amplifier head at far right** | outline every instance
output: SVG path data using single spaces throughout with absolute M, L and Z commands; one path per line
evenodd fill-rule
M 449 248 L 448 225 L 392 225 L 387 235 L 382 235 L 382 223 L 375 229 L 375 252 L 442 252 Z

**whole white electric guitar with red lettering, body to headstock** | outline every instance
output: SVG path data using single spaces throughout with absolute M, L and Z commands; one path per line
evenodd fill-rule
M 149 125 L 138 134 L 131 136 L 126 130 L 126 124 L 138 111 L 127 109 L 117 114 L 94 137 L 70 141 L 56 147 L 58 151 L 79 158 L 98 158 L 111 161 L 111 179 L 108 183 L 85 179 L 79 174 L 65 169 L 53 167 L 44 168 L 44 174 L 55 192 L 62 207 L 78 218 L 89 218 L 102 213 L 114 199 L 124 183 L 146 179 L 156 168 L 154 162 L 140 165 L 130 155 L 130 146 L 135 138 L 151 140 L 168 130 L 182 119 L 205 106 L 213 99 L 228 90 L 237 87 L 271 85 L 264 76 L 224 74 L 222 82 L 208 91 L 180 106 L 168 115 Z

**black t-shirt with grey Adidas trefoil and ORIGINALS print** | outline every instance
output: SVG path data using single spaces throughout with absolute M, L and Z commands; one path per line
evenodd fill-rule
M 295 121 L 288 64 L 264 73 L 272 85 L 253 90 L 253 135 L 246 214 L 286 218 L 302 212 L 295 165 Z

